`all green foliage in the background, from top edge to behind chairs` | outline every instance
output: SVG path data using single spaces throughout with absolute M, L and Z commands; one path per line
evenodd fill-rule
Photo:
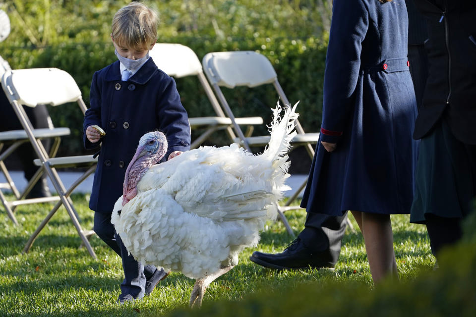
M 10 36 L 0 54 L 12 68 L 57 67 L 70 73 L 89 103 L 95 71 L 116 60 L 110 39 L 114 13 L 128 1 L 10 0 L 0 4 L 11 21 Z M 187 0 L 145 1 L 161 18 L 159 40 L 190 47 L 201 59 L 217 51 L 251 50 L 270 59 L 307 131 L 318 131 L 330 22 L 330 0 Z M 196 78 L 178 79 L 182 103 L 190 117 L 214 115 Z M 225 89 L 237 116 L 249 112 L 271 118 L 278 100 L 272 86 Z M 253 110 L 250 110 L 253 108 Z M 66 140 L 71 153 L 82 151 L 82 115 L 76 107 L 51 110 L 56 126 L 72 127 Z M 58 112 L 58 113 L 56 113 Z M 75 128 L 77 127 L 77 129 Z M 264 127 L 257 133 L 264 133 Z M 218 137 L 221 145 L 224 138 Z

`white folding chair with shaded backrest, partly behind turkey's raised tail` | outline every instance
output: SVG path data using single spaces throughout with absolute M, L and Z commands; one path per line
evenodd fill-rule
M 218 52 L 208 53 L 203 57 L 203 70 L 207 75 L 208 80 L 220 101 L 220 104 L 225 109 L 228 117 L 232 120 L 235 132 L 238 138 L 235 139 L 244 148 L 250 150 L 251 146 L 265 146 L 270 139 L 270 136 L 245 136 L 238 127 L 233 111 L 231 110 L 223 92 L 220 87 L 235 88 L 236 86 L 257 87 L 265 84 L 273 84 L 280 99 L 285 105 L 290 103 L 286 97 L 281 85 L 278 82 L 276 72 L 271 65 L 271 62 L 262 54 L 251 51 L 240 52 Z M 299 121 L 296 120 L 297 135 L 293 138 L 292 143 L 295 146 L 304 146 L 312 160 L 314 156 L 314 147 L 312 144 L 317 143 L 319 133 L 305 133 Z M 296 193 L 288 200 L 284 207 L 280 207 L 279 215 L 288 232 L 294 236 L 284 211 L 296 209 L 291 207 L 291 203 L 296 200 L 297 195 L 305 187 L 306 180 L 302 183 Z

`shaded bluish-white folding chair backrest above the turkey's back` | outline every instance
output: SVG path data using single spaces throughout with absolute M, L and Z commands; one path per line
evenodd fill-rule
M 212 84 L 228 88 L 256 87 L 277 80 L 269 59 L 252 51 L 209 53 L 203 58 L 203 67 Z

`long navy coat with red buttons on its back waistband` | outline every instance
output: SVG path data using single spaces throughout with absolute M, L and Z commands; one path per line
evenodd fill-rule
M 409 213 L 417 143 L 403 1 L 335 0 L 320 141 L 301 202 L 308 212 Z

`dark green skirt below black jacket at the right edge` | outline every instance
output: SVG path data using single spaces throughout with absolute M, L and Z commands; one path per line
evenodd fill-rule
M 457 140 L 446 120 L 421 139 L 410 222 L 425 223 L 429 213 L 464 218 L 476 195 L 476 145 Z

